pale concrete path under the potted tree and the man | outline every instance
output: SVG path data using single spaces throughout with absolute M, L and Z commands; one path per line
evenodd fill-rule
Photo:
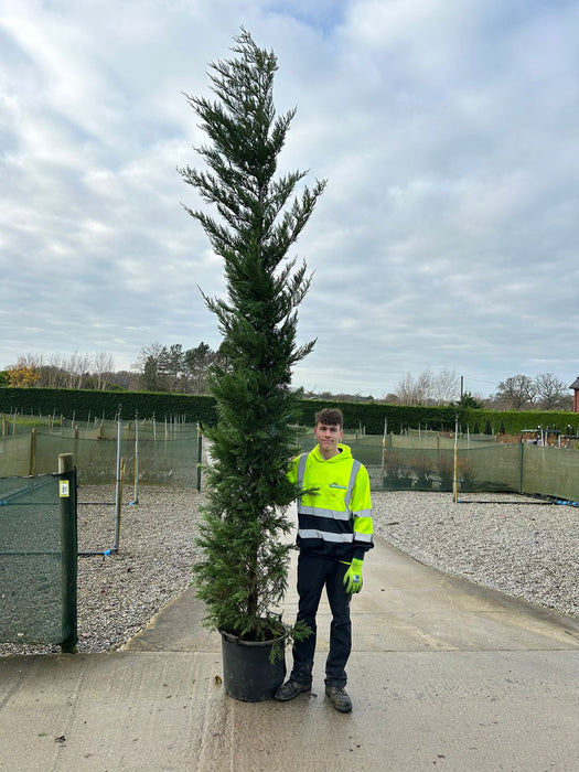
M 324 697 L 326 605 L 311 695 L 248 704 L 224 695 L 219 637 L 189 590 L 125 650 L 0 660 L 0 769 L 579 769 L 578 621 L 379 540 L 352 602 L 350 715 Z

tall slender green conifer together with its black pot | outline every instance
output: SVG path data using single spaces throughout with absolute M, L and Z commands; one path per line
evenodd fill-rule
M 297 307 L 311 276 L 288 250 L 325 181 L 297 195 L 305 172 L 277 175 L 294 110 L 276 114 L 274 52 L 259 49 L 245 30 L 234 41 L 234 56 L 210 65 L 215 98 L 186 95 L 211 140 L 197 149 L 207 168 L 179 170 L 217 208 L 218 221 L 185 206 L 223 258 L 227 287 L 226 298 L 204 294 L 219 323 L 226 364 L 211 378 L 217 425 L 208 431 L 212 467 L 193 572 L 207 623 L 222 633 L 227 694 L 258 701 L 272 696 L 285 675 L 279 641 L 287 629 L 271 610 L 287 588 L 285 512 L 296 497 L 286 478 L 299 409 L 291 371 L 313 346 L 297 344 Z M 268 648 L 274 641 L 277 664 Z

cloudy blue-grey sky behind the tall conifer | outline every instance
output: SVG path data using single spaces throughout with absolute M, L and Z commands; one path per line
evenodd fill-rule
M 218 346 L 176 168 L 204 141 L 183 93 L 242 25 L 298 108 L 282 170 L 329 181 L 291 253 L 318 339 L 294 385 L 575 380 L 579 0 L 0 0 L 0 368 Z

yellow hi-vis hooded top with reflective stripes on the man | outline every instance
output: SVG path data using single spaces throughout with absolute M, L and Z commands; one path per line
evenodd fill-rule
M 300 551 L 350 562 L 364 559 L 372 549 L 372 498 L 366 468 L 355 461 L 346 444 L 340 453 L 324 459 L 320 447 L 298 455 L 288 476 L 298 495 L 298 537 Z

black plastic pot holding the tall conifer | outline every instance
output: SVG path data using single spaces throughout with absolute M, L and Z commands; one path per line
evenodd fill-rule
M 244 703 L 262 703 L 271 699 L 286 677 L 287 633 L 277 641 L 242 641 L 236 635 L 221 631 L 223 652 L 223 684 L 226 694 Z M 274 645 L 279 655 L 270 662 Z

